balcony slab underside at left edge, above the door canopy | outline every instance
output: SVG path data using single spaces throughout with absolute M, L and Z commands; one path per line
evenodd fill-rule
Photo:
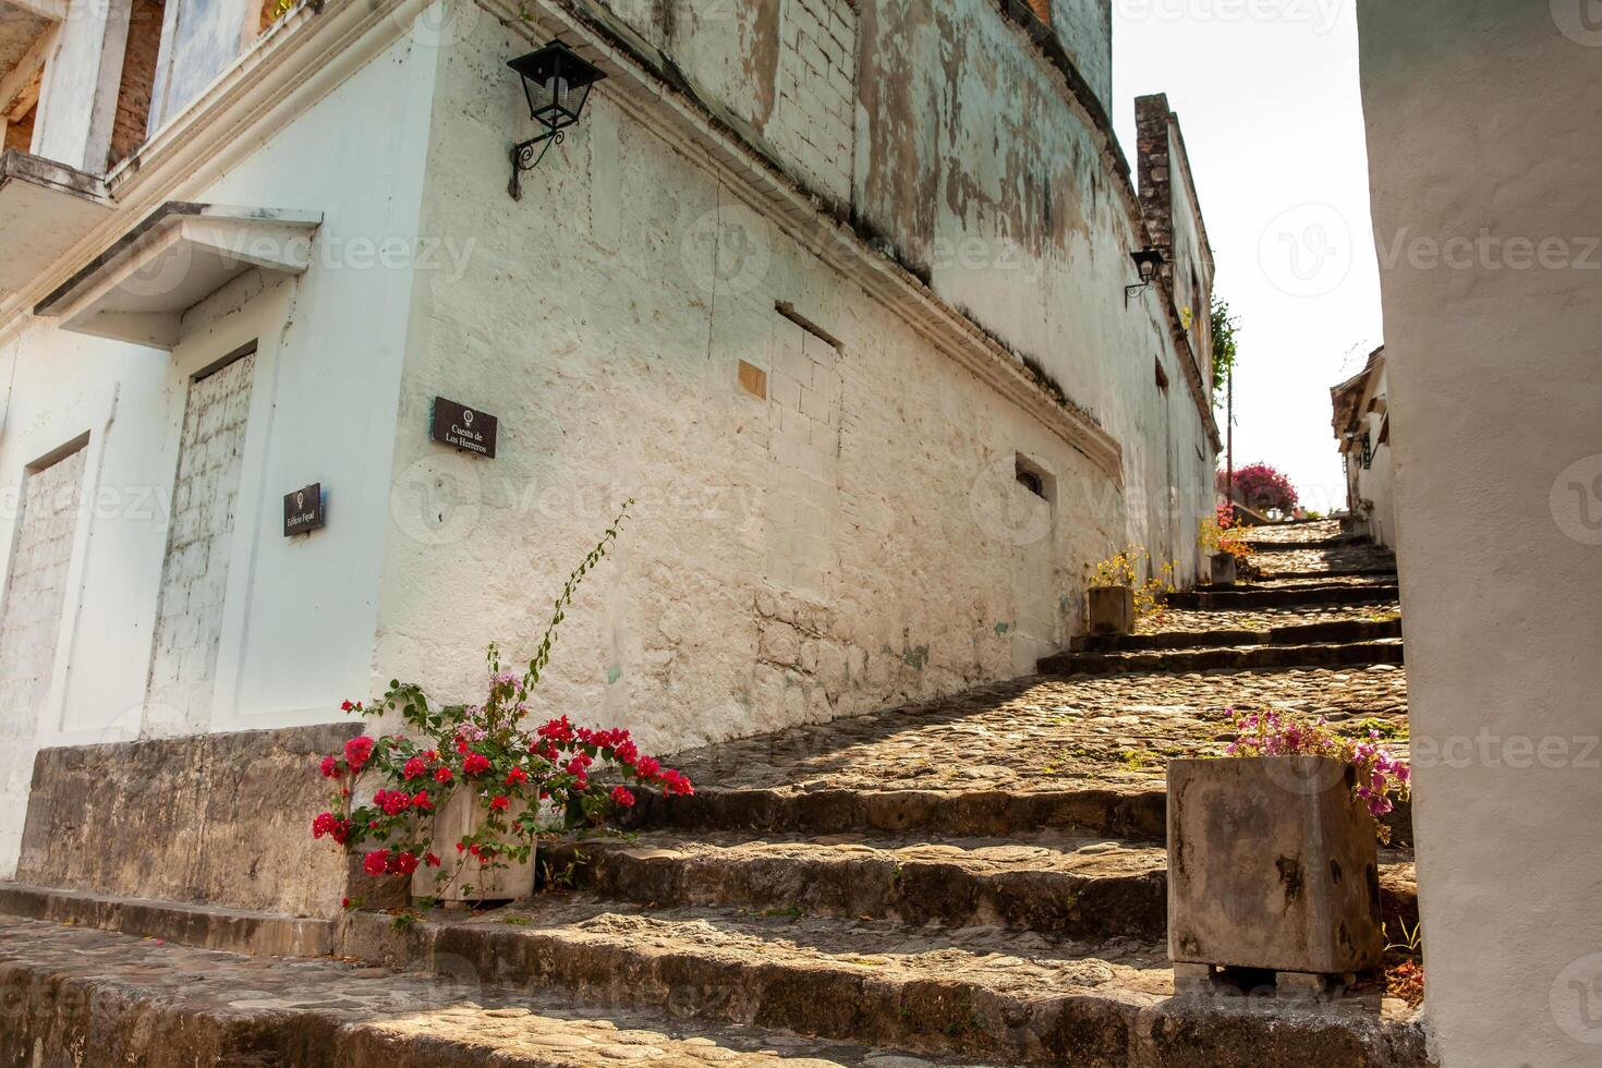
M 50 269 L 114 210 L 106 183 L 53 160 L 0 154 L 0 295 Z

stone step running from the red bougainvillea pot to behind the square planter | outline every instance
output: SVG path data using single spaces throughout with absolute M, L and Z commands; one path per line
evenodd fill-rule
M 1392 932 L 1418 922 L 1410 857 L 1386 850 L 1381 903 Z M 559 842 L 541 871 L 607 900 L 737 906 L 771 914 L 1000 925 L 1067 938 L 1163 940 L 1161 847 L 1065 836 L 804 837 L 703 833 Z

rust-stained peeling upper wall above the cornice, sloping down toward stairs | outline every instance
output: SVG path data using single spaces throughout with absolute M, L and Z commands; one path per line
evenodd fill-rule
M 1125 448 L 1120 540 L 1190 575 L 1211 445 L 1155 293 L 1125 307 L 1144 237 L 1099 131 L 982 0 L 868 0 L 859 37 L 857 215 L 1102 421 Z

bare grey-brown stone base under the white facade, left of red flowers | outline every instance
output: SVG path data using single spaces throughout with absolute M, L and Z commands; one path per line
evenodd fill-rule
M 357 724 L 40 749 L 18 881 L 332 916 L 346 861 L 312 841 L 320 754 Z

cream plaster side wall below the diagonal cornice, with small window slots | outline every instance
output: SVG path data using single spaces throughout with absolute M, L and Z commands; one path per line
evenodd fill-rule
M 527 656 L 626 496 L 540 714 L 673 748 L 1008 677 L 1064 642 L 1080 562 L 1123 535 L 1109 479 L 604 93 L 508 200 L 513 48 L 485 19 L 441 72 L 423 229 L 481 237 L 461 277 L 418 279 L 380 677 L 481 693 L 484 645 Z M 431 444 L 434 395 L 498 415 L 498 456 Z

